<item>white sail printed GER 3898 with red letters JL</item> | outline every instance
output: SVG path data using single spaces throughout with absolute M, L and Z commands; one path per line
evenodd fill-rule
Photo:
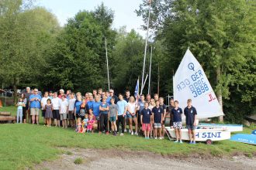
M 173 78 L 173 86 L 174 98 L 178 100 L 179 107 L 184 109 L 187 100 L 192 99 L 192 105 L 196 108 L 199 119 L 223 115 L 223 110 L 202 66 L 189 49 L 178 66 Z

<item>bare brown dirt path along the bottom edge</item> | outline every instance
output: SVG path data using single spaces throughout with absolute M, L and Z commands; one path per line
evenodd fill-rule
M 170 158 L 151 152 L 99 149 L 64 149 L 67 154 L 53 162 L 43 162 L 35 169 L 256 169 L 256 158 Z M 82 158 L 80 165 L 74 164 Z

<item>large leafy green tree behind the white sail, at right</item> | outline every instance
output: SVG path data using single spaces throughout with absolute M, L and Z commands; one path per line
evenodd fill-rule
M 145 5 L 140 6 L 138 15 L 145 14 Z M 206 70 L 221 105 L 224 98 L 227 121 L 233 117 L 228 110 L 233 97 L 249 106 L 254 103 L 255 1 L 157 0 L 152 6 L 153 11 L 158 10 L 152 25 L 161 24 L 155 27 L 157 39 L 166 46 L 171 69 L 176 70 L 190 47 Z M 251 110 L 253 107 L 244 111 L 240 120 Z

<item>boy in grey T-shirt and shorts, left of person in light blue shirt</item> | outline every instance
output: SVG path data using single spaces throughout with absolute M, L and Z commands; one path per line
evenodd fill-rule
M 113 135 L 117 135 L 117 128 L 116 128 L 116 120 L 118 116 L 118 107 L 115 104 L 115 98 L 110 99 L 110 105 L 109 105 L 109 120 L 111 122 L 111 129 L 113 132 Z

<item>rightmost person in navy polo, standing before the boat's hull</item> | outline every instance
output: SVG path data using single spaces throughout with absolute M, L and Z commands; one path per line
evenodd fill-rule
M 197 112 L 195 110 L 195 107 L 192 107 L 191 99 L 188 99 L 187 104 L 188 106 L 185 107 L 184 109 L 185 124 L 189 130 L 189 138 L 190 138 L 189 144 L 195 144 L 195 119 L 196 119 Z

